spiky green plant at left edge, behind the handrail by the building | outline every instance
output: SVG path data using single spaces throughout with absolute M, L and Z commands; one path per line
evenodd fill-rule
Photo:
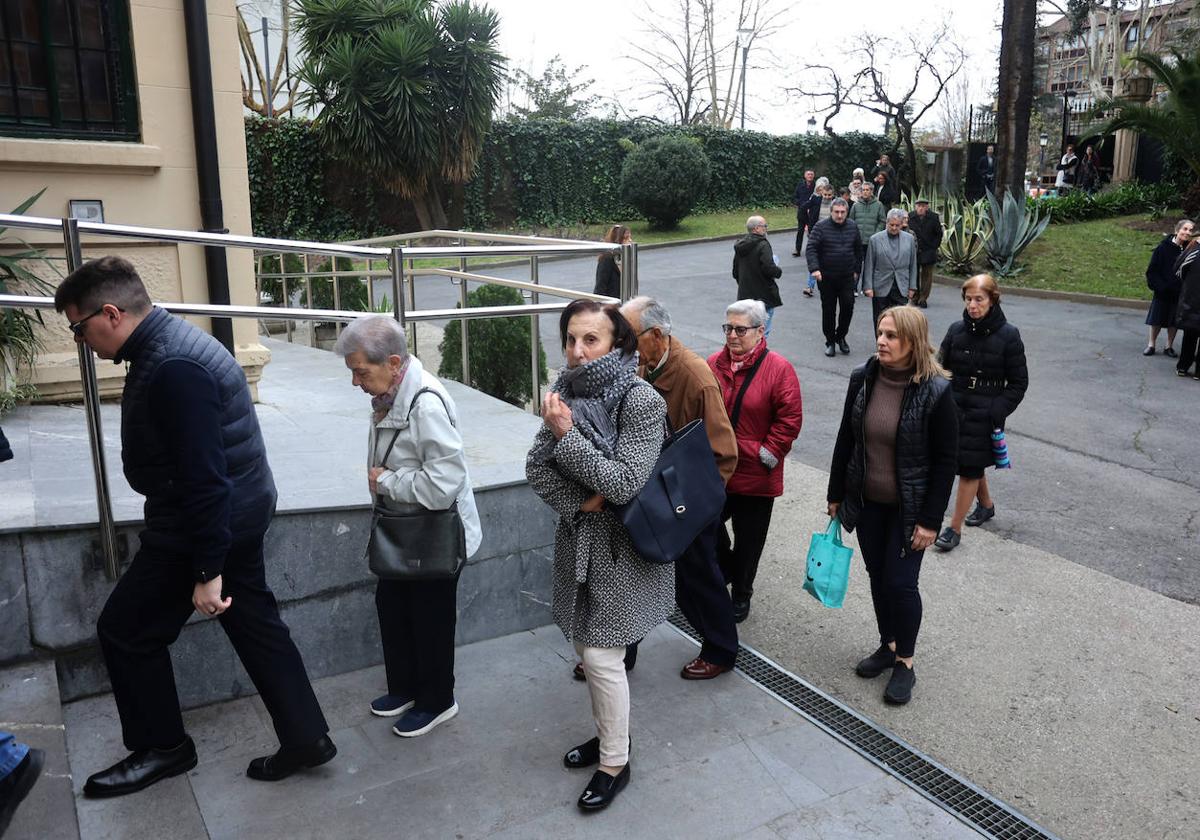
M 44 188 L 36 196 L 26 198 L 17 205 L 12 215 L 23 215 L 34 206 L 43 192 Z M 54 284 L 38 277 L 26 265 L 42 263 L 56 276 L 61 276 L 58 268 L 47 259 L 41 248 L 5 236 L 6 230 L 7 228 L 0 228 L 0 242 L 16 242 L 20 250 L 0 252 L 0 294 L 54 294 Z M 43 323 L 42 313 L 37 310 L 0 310 L 0 389 L 13 386 L 19 368 L 32 367 L 37 352 L 42 349 L 42 340 L 35 326 L 41 323 Z

